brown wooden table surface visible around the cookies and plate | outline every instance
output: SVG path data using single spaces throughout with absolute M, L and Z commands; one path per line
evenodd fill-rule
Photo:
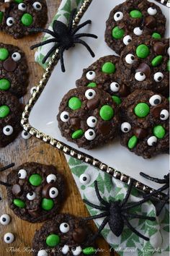
M 61 0 L 48 0 L 48 21 L 52 20 L 53 15 L 55 14 Z M 41 34 L 28 36 L 20 40 L 14 40 L 11 36 L 5 35 L 4 33 L 0 34 L 0 42 L 3 43 L 12 43 L 15 46 L 19 46 L 25 52 L 27 56 L 27 61 L 29 63 L 30 69 L 30 87 L 28 88 L 27 95 L 24 96 L 24 103 L 27 103 L 30 98 L 30 88 L 36 85 L 42 76 L 42 68 L 39 64 L 36 64 L 34 61 L 34 51 L 30 51 L 30 46 L 39 42 Z M 52 148 L 50 145 L 47 145 L 40 140 L 37 140 L 35 137 L 32 137 L 30 140 L 22 139 L 22 136 L 19 135 L 17 140 L 12 142 L 6 148 L 0 149 L 0 166 L 5 166 L 9 163 L 14 162 L 16 166 L 19 166 L 25 162 L 35 161 L 37 163 L 53 164 L 58 168 L 58 170 L 66 176 L 67 179 L 67 188 L 68 188 L 68 197 L 66 202 L 63 205 L 62 213 L 71 213 L 76 216 L 88 216 L 89 213 L 86 210 L 84 203 L 81 200 L 79 195 L 79 190 L 76 187 L 76 184 L 73 180 L 73 176 L 66 162 L 66 158 L 60 151 Z M 0 179 L 5 181 L 6 174 L 9 171 L 1 173 Z M 2 200 L 0 201 L 0 216 L 4 213 L 9 213 L 12 217 L 11 223 L 7 226 L 2 226 L 0 224 L 0 256 L 27 256 L 32 255 L 32 237 L 34 236 L 35 230 L 39 229 L 42 226 L 42 223 L 32 224 L 27 221 L 22 221 L 17 218 L 12 210 L 9 209 L 7 200 L 6 200 L 6 191 L 4 187 L 0 187 L 0 194 L 2 195 Z M 91 222 L 91 228 L 96 231 L 94 223 Z M 12 244 L 5 244 L 4 234 L 7 232 L 12 232 L 16 239 Z M 113 252 L 109 252 L 109 246 L 104 239 L 99 238 L 97 240 L 97 245 L 101 252 L 99 255 L 109 256 L 114 255 Z

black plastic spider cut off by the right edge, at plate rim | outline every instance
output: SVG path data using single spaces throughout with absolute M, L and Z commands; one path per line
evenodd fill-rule
M 154 192 L 151 192 L 150 197 L 151 195 L 156 195 L 158 192 L 162 192 L 168 189 L 168 192 L 164 197 L 164 199 L 159 201 L 158 204 L 156 205 L 156 216 L 159 216 L 159 214 L 161 213 L 161 210 L 164 208 L 164 205 L 166 205 L 166 203 L 169 202 L 169 174 L 164 175 L 164 179 L 153 178 L 151 176 L 148 176 L 147 174 L 143 174 L 143 172 L 140 172 L 140 175 L 146 179 L 149 179 L 151 182 L 164 184 L 164 186 L 160 187 L 159 189 L 156 189 Z

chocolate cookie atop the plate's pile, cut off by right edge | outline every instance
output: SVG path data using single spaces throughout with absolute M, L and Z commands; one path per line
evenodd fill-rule
M 169 95 L 169 40 L 138 38 L 120 56 L 121 81 L 130 88 Z

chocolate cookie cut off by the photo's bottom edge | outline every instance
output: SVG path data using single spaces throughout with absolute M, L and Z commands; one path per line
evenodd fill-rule
M 93 234 L 86 221 L 69 214 L 60 214 L 45 222 L 32 241 L 35 256 L 96 255 Z

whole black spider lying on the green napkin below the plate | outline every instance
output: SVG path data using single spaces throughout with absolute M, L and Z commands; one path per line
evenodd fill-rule
M 99 227 L 99 230 L 97 231 L 97 234 L 94 235 L 94 239 L 97 238 L 97 236 L 102 231 L 102 229 L 104 229 L 104 226 L 106 226 L 106 224 L 108 223 L 109 228 L 111 229 L 113 234 L 115 234 L 115 236 L 120 236 L 120 234 L 122 234 L 123 228 L 126 224 L 128 226 L 128 228 L 131 231 L 133 231 L 135 234 L 137 234 L 141 238 L 145 239 L 146 241 L 149 240 L 148 237 L 143 236 L 143 234 L 140 234 L 137 230 L 135 230 L 135 228 L 133 228 L 133 226 L 128 221 L 128 218 L 140 218 L 140 219 L 149 220 L 149 221 L 156 220 L 156 218 L 154 218 L 154 217 L 141 216 L 141 215 L 138 215 L 135 213 L 128 213 L 128 210 L 130 210 L 131 208 L 141 205 L 143 202 L 146 202 L 148 200 L 148 198 L 144 198 L 143 200 L 140 200 L 139 202 L 132 202 L 130 204 L 127 204 L 128 198 L 130 197 L 130 192 L 133 188 L 133 180 L 130 181 L 130 186 L 128 188 L 128 192 L 125 195 L 124 200 L 122 200 L 122 201 L 120 201 L 120 200 L 111 201 L 111 202 L 105 201 L 99 194 L 97 181 L 94 182 L 94 188 L 95 188 L 95 192 L 97 194 L 97 198 L 98 198 L 99 202 L 102 203 L 102 206 L 94 205 L 93 203 L 91 203 L 87 200 L 84 200 L 84 202 L 87 205 L 90 205 L 91 207 L 93 207 L 95 209 L 103 210 L 104 213 L 100 213 L 99 215 L 96 215 L 96 216 L 87 217 L 86 220 L 93 220 L 96 218 L 105 217 L 104 221 L 102 222 L 101 226 Z

